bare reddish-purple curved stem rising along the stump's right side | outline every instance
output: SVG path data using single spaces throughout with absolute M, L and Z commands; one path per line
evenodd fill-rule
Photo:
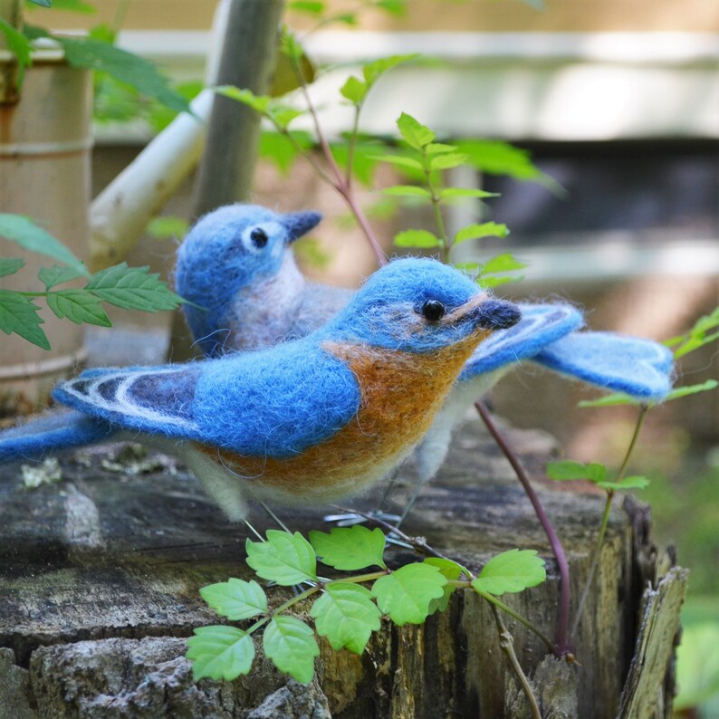
M 489 410 L 484 407 L 484 403 L 481 401 L 475 402 L 475 407 L 479 416 L 482 417 L 484 425 L 489 430 L 490 434 L 494 437 L 494 441 L 497 446 L 502 450 L 503 455 L 507 458 L 510 465 L 517 475 L 524 492 L 529 497 L 534 512 L 537 514 L 539 521 L 542 523 L 542 528 L 547 535 L 551 544 L 551 551 L 554 552 L 554 557 L 557 560 L 557 566 L 560 570 L 560 613 L 557 624 L 557 637 L 556 644 L 554 647 L 554 653 L 557 657 L 565 657 L 570 653 L 570 642 L 569 642 L 569 624 L 570 624 L 570 565 L 567 561 L 567 555 L 564 551 L 564 547 L 561 545 L 561 541 L 557 532 L 554 531 L 554 527 L 551 524 L 550 518 L 542 507 L 542 503 L 534 492 L 532 483 L 530 482 L 529 476 L 524 471 L 524 467 L 520 464 L 517 455 L 514 454 L 512 447 L 510 447 L 504 440 L 504 437 L 500 434 L 499 429 L 494 424 L 494 420 L 489 414 Z

